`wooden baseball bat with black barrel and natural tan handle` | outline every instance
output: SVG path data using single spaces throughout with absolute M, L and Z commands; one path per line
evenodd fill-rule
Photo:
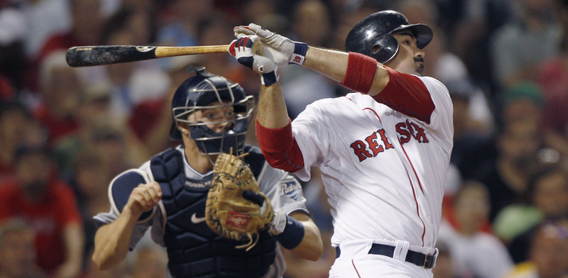
M 137 45 L 94 45 L 75 46 L 67 50 L 67 65 L 89 67 L 111 65 L 121 62 L 136 62 L 163 57 L 227 52 L 229 45 L 202 46 L 137 46 Z M 253 44 L 253 52 L 262 54 L 260 40 Z

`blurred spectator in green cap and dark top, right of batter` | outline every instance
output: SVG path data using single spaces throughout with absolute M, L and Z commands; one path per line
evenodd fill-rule
M 534 83 L 522 82 L 509 89 L 503 96 L 500 116 L 497 157 L 487 160 L 486 171 L 479 174 L 490 192 L 491 221 L 504 207 L 522 201 L 532 173 L 559 157 L 545 142 L 542 94 Z M 547 153 L 556 155 L 543 155 Z

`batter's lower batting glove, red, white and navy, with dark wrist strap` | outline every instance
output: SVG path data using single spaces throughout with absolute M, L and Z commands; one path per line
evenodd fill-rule
M 264 86 L 270 86 L 280 79 L 278 67 L 270 51 L 263 51 L 262 55 L 253 53 L 255 40 L 258 40 L 256 35 L 242 36 L 231 42 L 228 51 L 241 65 L 261 74 L 261 82 Z

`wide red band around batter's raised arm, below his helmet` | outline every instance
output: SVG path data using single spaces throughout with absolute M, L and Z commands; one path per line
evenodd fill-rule
M 339 84 L 366 94 L 371 89 L 376 71 L 377 60 L 361 53 L 349 52 L 347 71 L 345 72 L 343 82 Z

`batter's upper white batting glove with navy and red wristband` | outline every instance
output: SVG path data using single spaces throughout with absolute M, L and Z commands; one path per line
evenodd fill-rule
M 288 64 L 302 65 L 307 52 L 307 44 L 299 43 L 282 35 L 278 35 L 254 23 L 249 26 L 236 26 L 234 33 L 237 38 L 243 35 L 257 35 L 261 38 L 265 50 L 271 52 L 278 67 Z

